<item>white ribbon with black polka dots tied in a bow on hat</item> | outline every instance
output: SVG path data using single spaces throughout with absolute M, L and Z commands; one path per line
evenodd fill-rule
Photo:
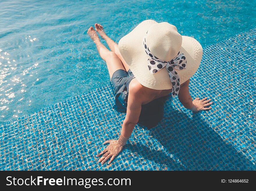
M 151 74 L 154 74 L 158 72 L 159 70 L 163 69 L 166 67 L 168 74 L 170 76 L 171 83 L 173 84 L 173 91 L 172 91 L 172 96 L 175 97 L 175 95 L 179 94 L 179 75 L 174 69 L 182 70 L 186 68 L 186 57 L 184 54 L 178 53 L 176 58 L 172 59 L 169 62 L 162 61 L 156 56 L 154 56 L 149 48 L 146 45 L 146 38 L 144 38 L 143 45 L 145 48 L 145 51 L 147 55 L 150 57 L 147 61 L 147 66 Z

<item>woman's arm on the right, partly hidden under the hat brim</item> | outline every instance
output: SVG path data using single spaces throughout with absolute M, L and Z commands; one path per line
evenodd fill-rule
M 211 101 L 211 99 L 207 100 L 207 97 L 201 100 L 197 97 L 192 101 L 191 95 L 189 93 L 189 82 L 190 80 L 187 80 L 180 87 L 179 94 L 178 94 L 180 103 L 182 103 L 182 105 L 185 108 L 192 110 L 194 112 L 211 109 L 211 107 L 207 108 L 207 106 L 211 105 L 213 102 L 209 102 Z

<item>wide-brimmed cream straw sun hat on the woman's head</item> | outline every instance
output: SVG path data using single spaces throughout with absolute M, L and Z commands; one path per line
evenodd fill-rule
M 173 75 L 179 77 L 179 83 L 177 79 L 176 83 L 182 84 L 195 74 L 203 53 L 202 46 L 194 38 L 180 35 L 177 28 L 168 22 L 157 23 L 153 20 L 138 24 L 120 39 L 118 47 L 138 82 L 154 90 L 168 90 L 175 85 L 170 81 L 172 76 L 165 67 L 166 63 L 173 63 L 175 58 L 176 64 L 182 63 L 173 67 L 173 72 L 177 74 Z

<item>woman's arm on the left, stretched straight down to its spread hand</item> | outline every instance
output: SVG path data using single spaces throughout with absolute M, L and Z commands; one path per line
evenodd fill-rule
M 112 160 L 117 156 L 120 151 L 122 150 L 123 146 L 126 144 L 127 140 L 130 138 L 131 133 L 137 124 L 140 113 L 141 113 L 141 103 L 142 103 L 142 95 L 139 89 L 140 87 L 129 87 L 129 94 L 128 94 L 128 103 L 127 103 L 127 111 L 126 117 L 122 125 L 121 134 L 118 140 L 108 140 L 105 143 L 110 143 L 109 146 L 104 149 L 101 153 L 97 156 L 102 155 L 105 153 L 98 162 L 101 164 L 105 163 L 110 157 L 109 164 Z

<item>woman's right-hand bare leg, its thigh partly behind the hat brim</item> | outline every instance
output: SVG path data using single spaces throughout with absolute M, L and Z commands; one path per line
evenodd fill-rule
M 122 61 L 122 64 L 125 68 L 126 71 L 129 70 L 129 66 L 127 65 L 127 63 L 125 62 L 124 58 L 122 57 L 119 49 L 118 49 L 118 44 L 116 44 L 111 38 L 109 38 L 106 33 L 104 32 L 103 26 L 100 24 L 95 24 L 95 29 L 96 31 L 99 33 L 99 35 L 106 40 L 106 43 L 108 44 L 109 48 L 111 49 L 111 51 L 113 51 L 118 57 L 119 59 Z

